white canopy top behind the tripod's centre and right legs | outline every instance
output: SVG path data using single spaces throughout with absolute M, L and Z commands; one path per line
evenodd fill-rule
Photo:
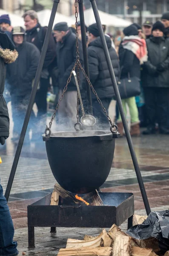
M 131 25 L 132 23 L 128 20 L 121 19 L 115 15 L 111 15 L 106 12 L 98 11 L 100 15 L 101 23 L 106 26 L 113 26 L 117 28 L 124 28 Z M 73 18 L 73 16 L 71 16 Z M 95 16 L 93 14 L 93 9 L 87 9 L 84 11 L 85 23 L 87 26 L 96 23 Z M 80 20 L 80 19 L 79 19 Z

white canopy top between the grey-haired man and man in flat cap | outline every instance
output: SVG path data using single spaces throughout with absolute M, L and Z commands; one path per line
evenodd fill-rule
M 48 26 L 50 15 L 51 15 L 51 10 L 49 9 L 45 9 L 43 11 L 37 12 L 37 16 L 39 18 L 39 22 L 41 26 Z M 54 24 L 58 22 L 63 22 L 63 21 L 67 22 L 68 26 L 71 26 L 72 24 L 75 23 L 75 20 L 72 17 L 68 17 L 66 15 L 63 15 L 57 12 L 54 19 Z

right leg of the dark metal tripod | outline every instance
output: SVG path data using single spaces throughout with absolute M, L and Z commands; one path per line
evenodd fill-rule
M 104 53 L 105 53 L 105 57 L 106 57 L 106 62 L 107 62 L 108 68 L 109 68 L 110 77 L 112 79 L 112 84 L 113 84 L 113 88 L 114 88 L 114 91 L 115 91 L 115 96 L 116 96 L 118 108 L 119 108 L 119 111 L 120 111 L 121 119 L 122 119 L 122 122 L 123 122 L 124 131 L 125 131 L 125 134 L 126 134 L 126 139 L 127 139 L 128 145 L 129 145 L 129 150 L 130 150 L 130 154 L 131 154 L 131 157 L 132 157 L 133 165 L 135 167 L 135 172 L 136 172 L 136 175 L 137 175 L 138 184 L 140 186 L 141 195 L 143 197 L 143 202 L 144 202 L 144 205 L 145 205 L 145 208 L 146 208 L 146 213 L 147 213 L 147 215 L 149 215 L 149 213 L 151 212 L 151 209 L 150 209 L 149 201 L 148 201 L 148 198 L 147 198 L 147 195 L 146 195 L 146 190 L 145 190 L 145 187 L 144 187 L 143 179 L 142 179 L 142 176 L 141 176 L 141 173 L 140 173 L 140 168 L 139 168 L 137 157 L 136 157 L 136 154 L 135 154 L 135 149 L 134 149 L 134 146 L 133 146 L 133 143 L 132 143 L 132 138 L 131 138 L 131 135 L 130 135 L 130 132 L 129 132 L 129 127 L 128 127 L 128 124 L 127 124 L 126 116 L 125 116 L 125 113 L 123 111 L 123 106 L 122 106 L 122 102 L 121 102 L 121 98 L 120 98 L 120 93 L 119 93 L 117 82 L 116 82 L 116 79 L 115 79 L 115 73 L 114 73 L 114 70 L 113 70 L 113 67 L 112 67 L 112 62 L 111 62 L 110 55 L 109 55 L 109 50 L 108 50 L 108 47 L 107 47 L 107 44 L 106 44 L 106 39 L 105 39 L 105 35 L 104 35 L 104 32 L 103 32 L 102 24 L 101 24 L 101 21 L 100 21 L 96 0 L 90 0 L 90 2 L 92 4 L 92 9 L 93 9 L 93 12 L 94 12 L 94 15 L 95 15 L 95 20 L 96 20 L 97 27 L 98 27 L 98 30 L 99 30 L 101 42 L 102 42 L 102 45 L 103 45 L 103 49 L 104 49 Z

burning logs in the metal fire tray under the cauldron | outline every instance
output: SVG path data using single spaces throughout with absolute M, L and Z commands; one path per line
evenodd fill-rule
M 61 198 L 71 202 L 74 201 L 75 204 L 85 205 L 86 203 L 89 203 L 90 206 L 102 206 L 103 201 L 100 198 L 100 195 L 98 194 L 97 190 L 90 192 L 88 194 L 83 194 L 82 200 L 78 200 L 75 196 L 76 194 L 69 192 L 65 189 L 63 189 L 59 184 L 54 185 L 54 191 L 57 192 Z M 77 195 L 79 196 L 79 195 Z

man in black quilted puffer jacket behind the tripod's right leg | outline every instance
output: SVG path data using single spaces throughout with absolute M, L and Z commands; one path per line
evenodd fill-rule
M 112 47 L 111 38 L 106 36 L 106 43 L 109 49 L 110 58 L 115 72 L 116 80 L 118 81 L 120 75 L 119 60 L 115 49 Z M 110 78 L 109 69 L 106 63 L 106 57 L 104 54 L 103 46 L 99 36 L 97 24 L 92 24 L 88 28 L 88 40 L 89 46 L 87 49 L 88 61 L 89 61 L 89 76 L 90 81 L 95 88 L 97 95 L 101 99 L 103 106 L 108 113 L 110 102 L 115 96 L 112 80 Z M 83 89 L 85 89 L 85 82 L 83 83 Z M 101 108 L 96 96 L 92 93 L 92 105 L 93 115 L 100 121 L 100 124 L 107 126 L 108 120 Z

